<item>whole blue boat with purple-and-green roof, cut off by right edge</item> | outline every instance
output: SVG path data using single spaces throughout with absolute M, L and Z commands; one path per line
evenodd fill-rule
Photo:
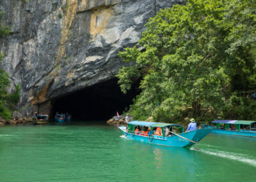
M 256 121 L 214 120 L 212 121 L 213 126 L 201 125 L 204 128 L 211 128 L 212 133 L 256 137 Z

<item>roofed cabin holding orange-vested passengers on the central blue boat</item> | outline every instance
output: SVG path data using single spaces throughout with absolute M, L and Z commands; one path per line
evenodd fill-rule
M 155 135 L 158 138 L 163 138 L 172 136 L 172 132 L 184 133 L 184 126 L 171 123 L 131 121 L 128 123 L 127 133 L 131 133 L 132 135 L 142 135 L 145 137 Z

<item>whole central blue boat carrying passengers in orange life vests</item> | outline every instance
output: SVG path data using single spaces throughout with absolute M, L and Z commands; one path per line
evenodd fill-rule
M 128 130 L 125 126 L 119 126 L 118 128 L 128 139 L 172 147 L 192 146 L 211 132 L 211 129 L 205 128 L 184 133 L 184 126 L 182 125 L 146 121 L 131 121 L 128 123 Z M 138 128 L 141 131 L 138 132 Z M 149 130 L 148 133 L 145 132 L 145 128 Z M 161 135 L 157 135 L 157 130 L 161 130 Z

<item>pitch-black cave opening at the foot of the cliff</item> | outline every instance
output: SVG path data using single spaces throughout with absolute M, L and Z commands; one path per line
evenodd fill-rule
M 139 94 L 138 83 L 124 95 L 117 79 L 106 80 L 54 100 L 51 116 L 56 112 L 72 114 L 72 119 L 106 120 L 129 109 L 132 99 Z

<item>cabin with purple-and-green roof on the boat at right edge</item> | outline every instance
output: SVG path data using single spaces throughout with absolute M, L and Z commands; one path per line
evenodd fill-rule
M 244 120 L 214 120 L 212 125 L 218 130 L 256 131 L 256 121 Z

